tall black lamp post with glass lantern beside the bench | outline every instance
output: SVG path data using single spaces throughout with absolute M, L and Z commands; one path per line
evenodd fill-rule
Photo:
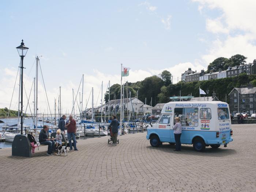
M 23 39 L 22 42 L 20 44 L 20 46 L 16 47 L 16 49 L 18 50 L 19 56 L 21 58 L 21 85 L 20 85 L 20 104 L 21 104 L 21 108 L 20 108 L 20 112 L 21 112 L 21 116 L 20 116 L 20 129 L 21 129 L 21 135 L 23 134 L 23 59 L 26 56 L 27 50 L 29 49 L 28 47 L 25 47 L 24 43 L 23 43 Z

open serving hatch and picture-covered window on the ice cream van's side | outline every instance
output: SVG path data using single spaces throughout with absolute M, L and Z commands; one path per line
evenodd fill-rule
M 174 117 L 180 117 L 182 126 L 198 126 L 198 108 L 175 108 Z

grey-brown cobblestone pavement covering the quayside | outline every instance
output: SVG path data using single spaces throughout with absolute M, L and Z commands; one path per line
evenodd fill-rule
M 0 150 L 0 191 L 256 191 L 256 124 L 233 125 L 227 148 L 203 153 L 163 143 L 153 148 L 146 133 L 78 141 L 79 151 L 32 158 Z

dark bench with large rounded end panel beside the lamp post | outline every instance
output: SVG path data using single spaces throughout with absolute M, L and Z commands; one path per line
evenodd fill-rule
M 62 135 L 62 142 L 65 146 L 67 146 L 67 140 L 63 133 Z M 56 137 L 56 133 L 52 133 L 51 137 Z M 45 146 L 43 144 L 40 144 L 39 146 Z M 29 141 L 29 138 L 27 138 L 26 135 L 16 135 L 13 143 L 12 143 L 12 155 L 13 156 L 21 156 L 21 157 L 32 157 L 32 146 Z

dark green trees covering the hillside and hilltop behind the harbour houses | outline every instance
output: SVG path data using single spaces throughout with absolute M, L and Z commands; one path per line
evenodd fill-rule
M 207 71 L 218 71 L 219 68 L 226 70 L 229 66 L 233 67 L 245 63 L 247 57 L 236 54 L 229 59 L 225 57 L 219 57 L 208 65 Z M 147 105 L 150 104 L 152 98 L 152 106 L 157 103 L 169 102 L 169 97 L 179 96 L 180 91 L 182 96 L 192 94 L 194 97 L 199 97 L 199 87 L 206 92 L 209 90 L 208 96 L 211 97 L 213 92 L 220 101 L 225 101 L 227 96 L 227 102 L 229 102 L 228 94 L 234 87 L 247 86 L 251 83 L 256 86 L 256 75 L 247 75 L 246 73 L 239 74 L 238 76 L 223 78 L 223 79 L 211 79 L 206 81 L 195 82 L 178 82 L 172 84 L 172 74 L 169 71 L 163 71 L 161 74 L 147 77 L 142 81 L 136 83 L 127 82 L 127 86 L 124 87 L 124 97 L 136 97 L 138 91 L 138 99 L 145 103 L 147 98 Z M 120 84 L 114 84 L 110 87 L 110 100 L 116 98 L 120 99 Z M 131 95 L 130 95 L 131 93 Z M 202 95 L 201 95 L 202 96 Z M 105 101 L 108 102 L 109 94 L 105 94 Z

